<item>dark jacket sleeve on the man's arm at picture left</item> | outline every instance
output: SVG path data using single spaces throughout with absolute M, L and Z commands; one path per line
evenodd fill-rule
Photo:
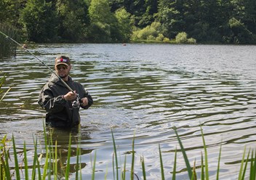
M 46 85 L 39 94 L 38 103 L 48 113 L 57 113 L 63 110 L 66 101 L 63 95 L 53 97 L 52 91 Z

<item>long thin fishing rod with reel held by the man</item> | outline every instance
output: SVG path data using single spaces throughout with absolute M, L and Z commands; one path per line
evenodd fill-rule
M 57 78 L 59 78 L 59 80 L 60 80 L 61 82 L 63 82 L 63 84 L 64 84 L 70 91 L 72 91 L 73 93 L 75 93 L 75 92 L 73 91 L 73 89 L 71 89 L 71 87 L 68 86 L 67 83 L 65 83 L 65 81 L 63 80 L 63 78 L 60 78 L 60 75 L 57 75 L 57 73 L 56 73 L 54 70 L 52 70 L 47 64 L 45 64 L 43 61 L 41 61 L 38 57 L 36 57 L 35 54 L 33 54 L 32 52 L 30 52 L 24 45 L 18 43 L 18 42 L 15 41 L 13 38 L 7 36 L 5 33 L 1 32 L 1 30 L 0 30 L 0 33 L 1 33 L 3 36 L 5 36 L 5 38 L 7 38 L 9 41 L 12 41 L 12 42 L 14 42 L 15 44 L 21 46 L 21 47 L 25 50 L 25 52 L 28 52 L 29 54 L 31 54 L 33 57 L 36 58 L 36 60 L 39 60 L 39 62 L 41 62 L 42 65 L 45 65 L 52 73 L 54 73 L 54 74 L 57 76 Z M 81 102 L 81 99 L 78 97 L 78 95 L 77 95 L 77 100 L 78 100 L 78 101 L 73 101 L 73 104 L 72 104 L 72 106 L 75 107 L 75 108 L 79 107 L 79 103 L 78 103 L 78 102 Z

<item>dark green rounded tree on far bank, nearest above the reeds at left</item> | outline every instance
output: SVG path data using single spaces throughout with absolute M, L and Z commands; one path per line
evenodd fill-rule
M 56 20 L 52 3 L 44 0 L 28 0 L 20 15 L 27 39 L 33 42 L 53 41 L 56 36 Z

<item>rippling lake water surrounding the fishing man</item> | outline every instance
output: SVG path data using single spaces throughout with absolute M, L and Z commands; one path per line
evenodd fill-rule
M 36 44 L 30 47 L 36 57 L 52 68 L 57 54 L 70 56 L 71 76 L 84 85 L 95 101 L 89 110 L 80 111 L 80 133 L 73 133 L 81 147 L 83 179 L 91 179 L 95 152 L 95 179 L 104 176 L 113 179 L 111 128 L 121 168 L 127 155 L 130 170 L 135 136 L 135 173 L 140 179 L 142 156 L 147 179 L 161 178 L 159 146 L 164 176 L 171 179 L 175 148 L 180 150 L 174 127 L 191 165 L 196 160 L 199 166 L 201 152 L 204 153 L 201 125 L 210 179 L 216 176 L 220 146 L 220 179 L 237 179 L 244 147 L 256 148 L 256 46 Z M 1 75 L 7 75 L 4 91 L 12 86 L 0 104 L 0 135 L 8 134 L 11 138 L 13 134 L 20 149 L 25 141 L 28 155 L 33 155 L 33 139 L 41 139 L 44 123 L 44 110 L 37 99 L 51 73 L 23 49 L 17 51 L 16 58 L 1 60 L 0 65 Z M 53 136 L 65 163 L 68 132 L 55 131 Z M 71 163 L 76 163 L 76 143 L 72 141 Z M 188 179 L 184 169 L 183 155 L 178 151 L 177 179 Z

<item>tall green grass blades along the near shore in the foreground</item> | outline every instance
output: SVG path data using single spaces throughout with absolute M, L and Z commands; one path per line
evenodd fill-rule
M 183 146 L 183 142 L 180 139 L 179 134 L 177 133 L 177 129 L 174 129 L 175 134 L 177 136 L 177 141 L 180 145 L 180 152 L 183 154 L 183 158 L 186 165 L 186 171 L 188 173 L 188 179 L 197 179 L 196 174 L 201 173 L 201 177 L 199 179 L 209 179 L 209 164 L 208 164 L 208 155 L 207 155 L 207 144 L 204 139 L 204 133 L 201 129 L 201 137 L 202 142 L 204 144 L 203 152 L 201 153 L 201 168 L 196 168 L 196 162 L 194 161 L 193 167 L 191 167 L 191 162 L 188 159 L 187 152 L 185 151 L 185 147 Z M 113 179 L 117 180 L 121 178 L 124 179 L 140 179 L 139 176 L 135 173 L 135 137 L 132 139 L 132 153 L 131 153 L 131 162 L 130 169 L 127 169 L 127 156 L 125 155 L 124 164 L 119 163 L 118 156 L 118 145 L 116 144 L 113 131 L 112 139 L 113 139 Z M 79 142 L 78 142 L 79 143 Z M 7 136 L 4 136 L 1 139 L 0 144 L 0 179 L 70 179 L 71 175 L 71 134 L 68 142 L 68 158 L 64 164 L 59 162 L 60 157 L 57 153 L 57 141 L 53 142 L 52 136 L 47 136 L 45 127 L 44 127 L 44 155 L 41 153 L 38 154 L 39 144 L 38 140 L 34 139 L 34 154 L 33 154 L 33 163 L 32 165 L 28 166 L 28 157 L 27 157 L 27 148 L 24 142 L 23 144 L 23 158 L 20 161 L 20 153 L 17 152 L 16 144 L 15 144 L 15 137 L 12 136 L 12 140 L 9 141 Z M 11 151 L 12 150 L 12 151 Z M 12 152 L 12 153 L 11 153 Z M 173 164 L 173 171 L 172 171 L 172 180 L 176 179 L 177 175 L 177 148 L 175 149 L 175 160 Z M 221 159 L 221 147 L 219 158 L 217 162 L 217 169 L 216 169 L 216 179 L 219 179 L 220 176 L 220 159 Z M 9 165 L 9 162 L 15 162 L 15 166 L 12 167 Z M 95 150 L 94 158 L 92 160 L 92 180 L 96 179 L 95 173 L 97 172 L 97 153 Z M 160 162 L 160 176 L 161 179 L 164 180 L 164 163 L 162 160 L 161 154 L 161 146 L 159 144 L 159 162 Z M 147 169 L 146 169 L 146 162 L 144 157 L 140 157 L 141 163 L 141 179 L 147 179 Z M 60 165 L 61 164 L 61 165 Z M 82 179 L 81 174 L 81 150 L 79 144 L 76 148 L 76 179 Z M 120 168 L 123 167 L 123 168 Z M 65 171 L 63 170 L 65 169 Z M 60 175 L 60 172 L 63 171 L 63 174 Z M 130 176 L 127 178 L 125 173 L 129 171 Z M 198 172 L 196 172 L 198 171 Z M 201 172 L 200 172 L 201 171 Z M 30 173 L 29 173 L 30 172 Z M 119 176 L 120 175 L 120 176 Z M 244 155 L 241 158 L 241 168 L 238 172 L 238 179 L 245 179 L 245 177 L 249 176 L 249 179 L 256 178 L 256 152 L 249 150 L 246 153 L 246 149 L 244 149 Z M 106 179 L 106 175 L 105 175 Z

